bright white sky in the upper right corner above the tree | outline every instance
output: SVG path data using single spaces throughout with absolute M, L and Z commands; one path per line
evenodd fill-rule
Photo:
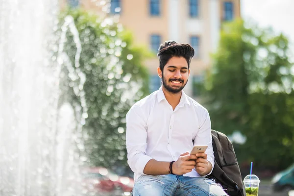
M 241 15 L 262 27 L 283 32 L 294 45 L 294 0 L 241 0 Z

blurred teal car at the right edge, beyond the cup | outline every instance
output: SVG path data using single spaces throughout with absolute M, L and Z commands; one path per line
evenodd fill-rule
M 271 183 L 275 192 L 289 192 L 290 190 L 294 190 L 294 164 L 286 170 L 275 174 Z

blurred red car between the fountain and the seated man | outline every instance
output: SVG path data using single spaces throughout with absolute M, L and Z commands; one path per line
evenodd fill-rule
M 134 187 L 132 178 L 119 176 L 102 167 L 83 169 L 82 176 L 86 190 L 95 195 L 129 196 Z

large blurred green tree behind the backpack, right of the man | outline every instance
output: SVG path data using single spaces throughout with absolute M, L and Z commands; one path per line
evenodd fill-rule
M 294 161 L 294 91 L 288 40 L 237 20 L 224 24 L 203 91 L 212 127 L 247 138 L 239 161 L 283 169 Z

